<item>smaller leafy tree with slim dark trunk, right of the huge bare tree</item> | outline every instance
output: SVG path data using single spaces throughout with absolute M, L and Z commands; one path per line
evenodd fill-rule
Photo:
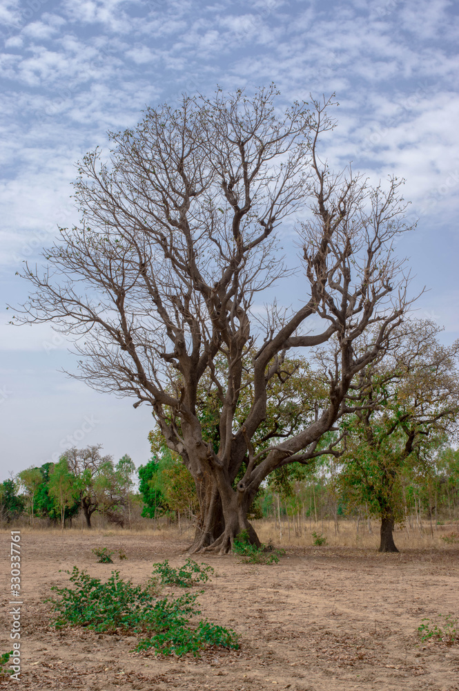
M 438 331 L 429 321 L 405 323 L 391 357 L 360 372 L 349 397 L 342 483 L 380 518 L 380 551 L 398 551 L 404 471 L 427 477 L 438 447 L 458 432 L 459 343 L 441 345 Z

